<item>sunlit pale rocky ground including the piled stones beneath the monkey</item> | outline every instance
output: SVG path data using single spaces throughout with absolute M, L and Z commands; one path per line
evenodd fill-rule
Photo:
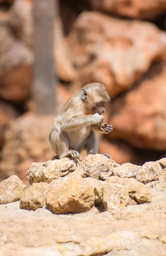
M 15 175 L 0 183 L 1 256 L 166 256 L 166 158 L 64 158 L 26 176 L 28 188 Z

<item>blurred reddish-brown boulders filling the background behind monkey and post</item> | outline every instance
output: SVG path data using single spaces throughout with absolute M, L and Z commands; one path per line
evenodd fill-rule
M 55 2 L 52 112 L 85 84 L 101 82 L 112 98 L 104 116 L 113 131 L 98 135 L 99 152 L 119 164 L 165 157 L 166 0 Z M 31 163 L 54 154 L 54 116 L 35 115 L 33 4 L 0 0 L 0 181 L 16 174 L 26 182 Z

